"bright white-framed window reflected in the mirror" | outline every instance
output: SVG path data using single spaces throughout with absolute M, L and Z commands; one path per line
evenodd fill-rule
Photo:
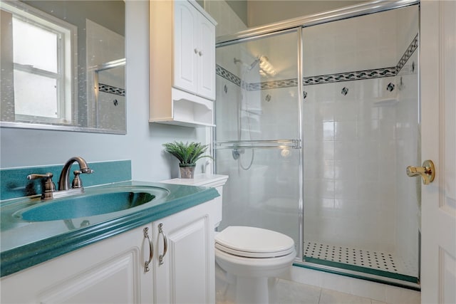
M 74 123 L 76 26 L 19 1 L 1 9 L 11 14 L 15 120 Z

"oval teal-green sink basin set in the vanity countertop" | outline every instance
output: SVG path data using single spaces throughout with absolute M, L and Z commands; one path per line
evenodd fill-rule
M 98 190 L 95 193 L 41 202 L 16 212 L 14 216 L 25 221 L 77 219 L 135 208 L 157 198 L 165 197 L 167 194 L 169 193 L 166 189 L 159 187 L 108 188 Z

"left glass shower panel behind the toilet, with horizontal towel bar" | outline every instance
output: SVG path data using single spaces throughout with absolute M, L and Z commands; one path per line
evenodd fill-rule
M 217 48 L 217 174 L 227 174 L 227 226 L 286 234 L 301 252 L 298 33 Z

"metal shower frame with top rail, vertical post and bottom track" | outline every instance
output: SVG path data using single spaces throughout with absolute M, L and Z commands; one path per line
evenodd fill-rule
M 261 38 L 266 38 L 269 36 L 275 36 L 280 33 L 286 33 L 287 31 L 297 31 L 298 34 L 298 56 L 297 56 L 297 66 L 298 68 L 298 92 L 299 92 L 299 138 L 302 142 L 303 137 L 303 103 L 304 103 L 304 83 L 303 83 L 303 75 L 304 75 L 304 67 L 302 66 L 302 51 L 303 51 L 303 38 L 302 38 L 302 29 L 309 27 L 309 26 L 316 26 L 318 24 L 328 23 L 331 21 L 339 21 L 343 19 L 364 16 L 368 14 L 375 14 L 380 13 L 382 11 L 390 11 L 393 9 L 400 9 L 407 6 L 413 6 L 416 4 L 420 4 L 420 0 L 398 0 L 398 1 L 384 1 L 384 0 L 375 0 L 369 1 L 363 4 L 357 4 L 354 6 L 346 6 L 341 9 L 335 9 L 332 11 L 326 11 L 323 13 L 318 14 L 311 14 L 309 16 L 303 16 L 295 19 L 289 19 L 286 21 L 280 21 L 276 23 L 266 24 L 264 26 L 257 26 L 254 28 L 249 28 L 244 31 L 240 31 L 239 33 L 235 33 L 234 35 L 225 35 L 219 36 L 216 38 L 216 48 L 221 46 L 229 46 L 231 44 L 237 44 L 252 40 L 257 40 Z M 419 101 L 420 102 L 420 101 Z M 215 135 L 213 133 L 214 142 L 215 142 Z M 212 147 L 212 153 L 215 154 L 214 151 L 215 147 Z M 370 273 L 363 273 L 360 271 L 351 271 L 345 268 L 336 268 L 332 266 L 323 266 L 318 265 L 315 263 L 309 263 L 304 260 L 303 254 L 303 243 L 304 243 L 304 190 L 303 190 L 303 182 L 304 182 L 304 149 L 301 147 L 301 155 L 300 155 L 300 168 L 299 168 L 299 184 L 300 184 L 300 197 L 299 197 L 299 218 L 300 218 L 300 231 L 299 231 L 299 246 L 297 247 L 298 256 L 295 259 L 294 265 L 302 266 L 305 268 L 311 268 L 319 271 L 326 271 L 329 273 L 336 273 L 341 274 L 343 276 L 351 276 L 353 278 L 362 278 L 368 281 L 378 282 L 378 283 L 386 283 L 389 285 L 395 285 L 399 287 L 410 288 L 413 290 L 420 290 L 419 283 L 411 283 L 408 281 L 402 281 L 394 278 L 388 278 L 384 276 L 377 276 Z M 214 171 L 215 171 L 214 166 Z M 420 263 L 420 262 L 419 262 Z M 419 280 L 418 274 L 418 280 Z

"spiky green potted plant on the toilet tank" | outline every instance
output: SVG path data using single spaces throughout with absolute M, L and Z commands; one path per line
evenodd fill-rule
M 163 144 L 165 151 L 179 159 L 180 177 L 182 179 L 192 179 L 195 174 L 197 160 L 210 155 L 202 155 L 206 152 L 208 145 L 201 142 L 167 142 Z

